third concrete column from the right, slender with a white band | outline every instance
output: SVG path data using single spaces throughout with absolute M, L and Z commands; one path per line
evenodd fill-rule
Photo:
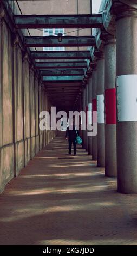
M 97 59 L 97 166 L 105 167 L 105 131 L 104 131 L 104 55 Z

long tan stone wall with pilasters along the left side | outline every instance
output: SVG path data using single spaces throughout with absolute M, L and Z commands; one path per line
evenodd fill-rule
M 17 35 L 16 35 L 17 36 Z M 55 137 L 40 131 L 39 113 L 51 103 L 42 81 L 5 19 L 0 25 L 0 193 Z

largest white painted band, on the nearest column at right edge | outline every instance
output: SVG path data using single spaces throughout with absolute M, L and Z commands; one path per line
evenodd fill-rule
M 137 75 L 116 77 L 117 121 L 137 121 Z

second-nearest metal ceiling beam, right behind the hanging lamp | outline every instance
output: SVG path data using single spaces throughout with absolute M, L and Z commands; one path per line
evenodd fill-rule
M 58 42 L 58 36 L 25 36 L 24 44 L 27 47 L 78 47 L 96 46 L 94 36 L 62 36 Z

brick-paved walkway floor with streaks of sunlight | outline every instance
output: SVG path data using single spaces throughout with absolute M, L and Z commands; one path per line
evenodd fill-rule
M 137 245 L 137 195 L 56 137 L 0 196 L 1 245 Z M 67 157 L 67 159 L 58 159 Z

